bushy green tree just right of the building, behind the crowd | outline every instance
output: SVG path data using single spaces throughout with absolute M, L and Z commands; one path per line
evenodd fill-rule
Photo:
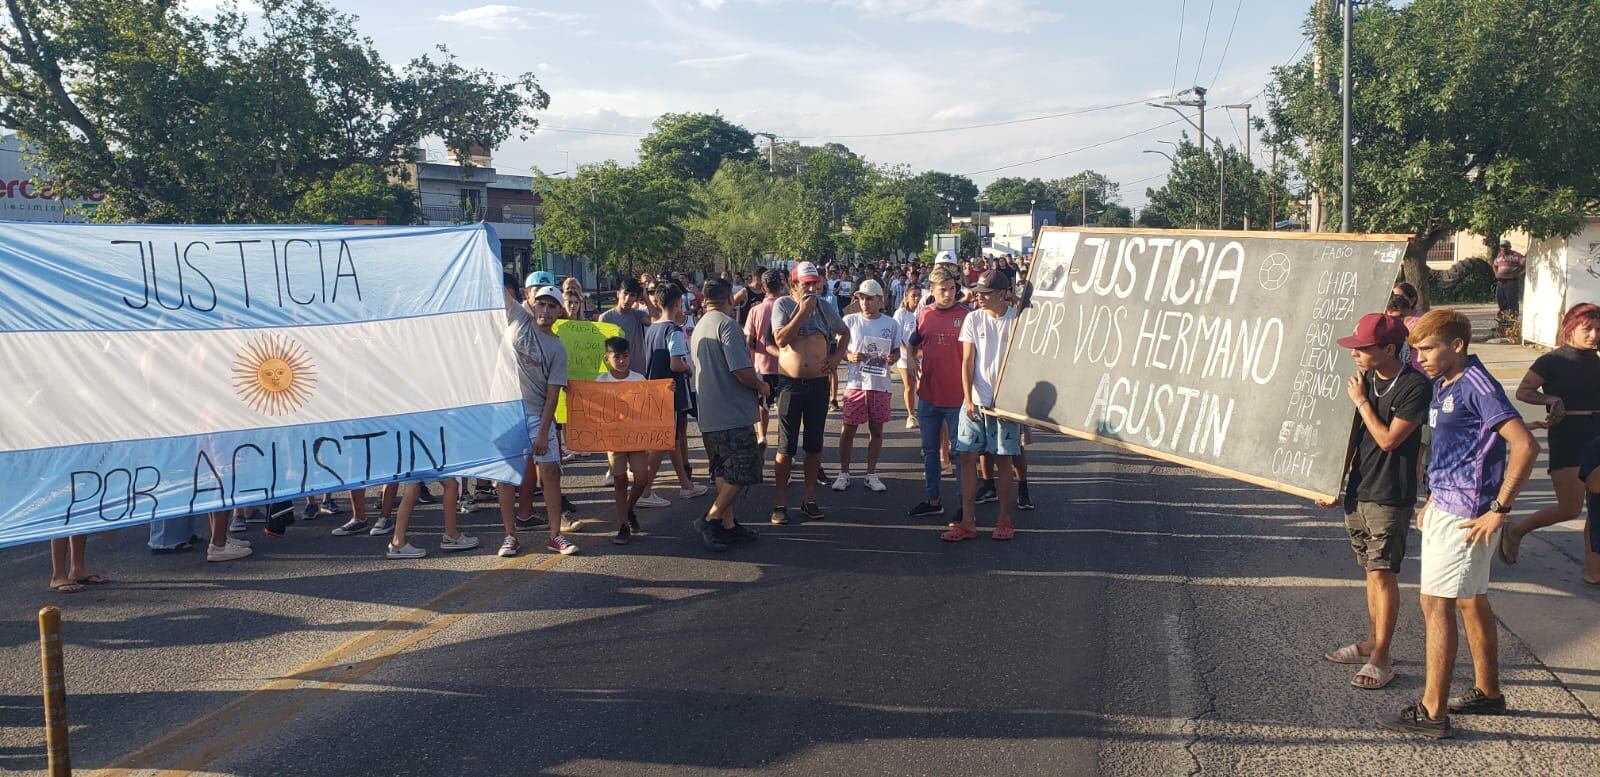
M 542 198 L 546 246 L 589 256 L 606 272 L 661 269 L 683 248 L 683 221 L 698 214 L 688 182 L 610 160 L 573 177 L 536 171 L 534 190 Z

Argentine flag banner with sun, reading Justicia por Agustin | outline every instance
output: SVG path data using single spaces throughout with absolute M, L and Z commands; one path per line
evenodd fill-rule
M 0 547 L 522 480 L 499 238 L 0 222 Z

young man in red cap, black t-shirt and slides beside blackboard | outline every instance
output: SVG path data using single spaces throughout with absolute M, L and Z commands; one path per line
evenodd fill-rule
M 1418 459 L 1422 424 L 1434 400 L 1426 376 L 1400 360 L 1406 341 L 1400 318 L 1368 313 L 1355 334 L 1341 337 L 1350 349 L 1357 376 L 1346 385 L 1355 403 L 1349 470 L 1344 489 L 1344 528 L 1355 563 L 1366 572 L 1366 640 L 1326 654 L 1336 663 L 1360 663 L 1350 684 L 1379 689 L 1394 679 L 1389 644 L 1400 611 L 1400 561 L 1416 515 Z M 1318 502 L 1333 507 L 1333 502 Z

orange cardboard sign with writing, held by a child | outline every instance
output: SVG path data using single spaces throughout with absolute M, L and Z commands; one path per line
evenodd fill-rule
M 672 449 L 672 381 L 573 381 L 566 403 L 566 446 L 573 451 Z

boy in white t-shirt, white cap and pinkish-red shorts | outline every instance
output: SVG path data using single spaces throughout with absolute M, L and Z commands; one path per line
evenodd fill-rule
M 883 315 L 883 286 L 875 280 L 861 283 L 856 293 L 859 313 L 845 317 L 850 329 L 846 361 L 850 373 L 845 381 L 845 432 L 838 435 L 838 476 L 834 491 L 850 488 L 850 452 L 856 441 L 856 427 L 867 425 L 867 476 L 861 481 L 870 491 L 886 491 L 878 480 L 878 452 L 883 449 L 883 424 L 890 420 L 890 366 L 899 360 L 904 336 L 901 325 Z

